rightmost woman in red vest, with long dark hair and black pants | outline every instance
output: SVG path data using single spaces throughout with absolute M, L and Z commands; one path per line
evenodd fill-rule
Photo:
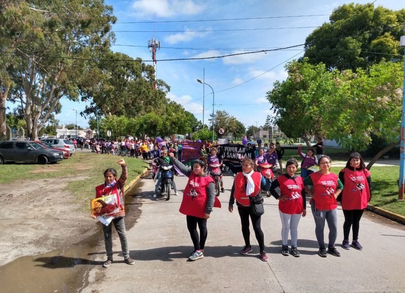
M 361 155 L 354 152 L 350 155 L 349 160 L 339 173 L 339 179 L 343 183 L 342 191 L 342 210 L 345 216 L 343 224 L 343 243 L 344 249 L 350 249 L 349 234 L 350 227 L 353 227 L 353 241 L 351 245 L 363 250 L 358 243 L 358 229 L 361 216 L 371 199 L 371 174 L 366 169 L 366 165 Z

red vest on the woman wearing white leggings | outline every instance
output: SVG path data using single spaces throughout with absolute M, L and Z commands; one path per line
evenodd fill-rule
M 286 201 L 278 201 L 278 210 L 284 214 L 301 214 L 303 209 L 301 191 L 304 188 L 302 177 L 297 176 L 294 182 L 293 179 L 282 175 L 276 180 L 280 185 L 281 195 L 287 196 Z

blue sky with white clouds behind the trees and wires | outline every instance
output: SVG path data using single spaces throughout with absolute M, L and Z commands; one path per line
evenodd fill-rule
M 204 122 L 208 124 L 213 111 L 213 95 L 211 88 L 205 86 L 203 99 L 203 85 L 197 79 L 203 80 L 204 77 L 214 90 L 214 110 L 227 111 L 246 127 L 260 127 L 267 115 L 272 115 L 266 93 L 272 89 L 273 82 L 287 78 L 284 66 L 303 55 L 302 46 L 206 60 L 159 60 L 216 57 L 301 45 L 315 27 L 329 20 L 334 8 L 351 3 L 328 0 L 105 2 L 113 7 L 113 14 L 117 17 L 117 23 L 112 27 L 116 36 L 115 45 L 111 47 L 114 52 L 140 57 L 145 63 L 152 64 L 147 44 L 155 37 L 161 47 L 156 53 L 156 75 L 170 86 L 167 96 L 170 100 L 183 105 L 201 121 L 204 103 Z M 374 5 L 399 10 L 405 7 L 401 3 L 398 0 L 377 0 Z M 62 99 L 61 103 L 62 113 L 57 115 L 61 123 L 75 123 L 75 109 L 77 124 L 88 126 L 88 121 L 79 115 L 85 103 L 67 99 Z

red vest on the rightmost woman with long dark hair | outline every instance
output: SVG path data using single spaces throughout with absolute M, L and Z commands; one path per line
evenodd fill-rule
M 343 169 L 344 188 L 342 191 L 342 210 L 363 210 L 370 200 L 370 188 L 367 177 L 370 172 L 367 169 L 352 171 Z

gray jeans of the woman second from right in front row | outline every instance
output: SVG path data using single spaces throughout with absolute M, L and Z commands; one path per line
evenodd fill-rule
M 323 241 L 323 228 L 325 228 L 325 219 L 329 227 L 329 244 L 328 247 L 335 247 L 336 238 L 338 236 L 338 209 L 319 211 L 315 208 L 315 201 L 312 200 L 311 210 L 313 219 L 315 220 L 315 235 L 318 240 L 319 247 L 325 247 Z

